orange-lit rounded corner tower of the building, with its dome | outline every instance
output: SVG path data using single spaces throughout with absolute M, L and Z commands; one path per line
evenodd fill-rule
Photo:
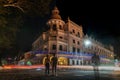
M 47 26 L 49 27 L 49 45 L 52 45 L 52 47 L 49 46 L 49 52 L 56 54 L 58 53 L 58 48 L 63 48 L 62 45 L 59 46 L 59 43 L 65 44 L 60 40 L 65 36 L 65 22 L 59 15 L 59 10 L 56 6 L 52 10 Z

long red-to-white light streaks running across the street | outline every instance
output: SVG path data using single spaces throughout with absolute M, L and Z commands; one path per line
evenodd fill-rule
M 72 66 L 57 66 L 58 69 L 81 69 L 81 70 L 93 70 L 93 66 L 80 66 L 80 65 L 72 65 Z M 20 65 L 7 65 L 0 69 L 44 69 L 44 65 L 32 65 L 32 66 L 20 66 Z M 113 70 L 120 71 L 120 67 L 115 66 L 99 66 L 99 70 Z

